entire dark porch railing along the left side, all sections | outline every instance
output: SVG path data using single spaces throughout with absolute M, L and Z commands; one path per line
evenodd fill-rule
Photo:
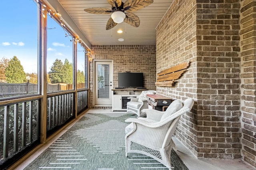
M 40 128 L 46 128 L 49 136 L 84 111 L 88 107 L 88 89 L 47 94 L 46 127 L 40 125 L 41 100 L 43 96 L 38 95 L 0 101 L 0 167 L 38 145 Z

